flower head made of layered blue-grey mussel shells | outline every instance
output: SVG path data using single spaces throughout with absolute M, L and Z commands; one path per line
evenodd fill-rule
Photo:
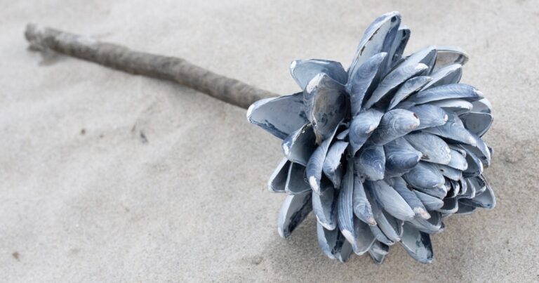
M 249 107 L 248 121 L 283 140 L 269 181 L 270 191 L 288 194 L 281 237 L 314 211 L 329 258 L 345 262 L 353 251 L 382 263 L 398 242 L 430 263 L 430 235 L 444 230 L 444 218 L 495 206 L 482 176 L 491 103 L 459 84 L 467 54 L 428 46 L 403 56 L 409 37 L 398 12 L 381 15 L 347 71 L 330 60 L 295 60 L 302 91 Z

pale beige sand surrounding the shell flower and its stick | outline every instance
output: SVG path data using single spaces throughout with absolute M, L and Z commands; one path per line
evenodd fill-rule
M 0 11 L 0 281 L 539 280 L 537 1 L 7 1 Z M 299 2 L 299 1 L 297 1 Z M 348 65 L 364 28 L 401 11 L 406 52 L 453 44 L 494 106 L 493 211 L 452 217 L 435 261 L 328 260 L 311 215 L 277 234 L 266 181 L 279 140 L 245 110 L 156 79 L 27 51 L 36 22 L 180 56 L 277 93 L 288 64 Z

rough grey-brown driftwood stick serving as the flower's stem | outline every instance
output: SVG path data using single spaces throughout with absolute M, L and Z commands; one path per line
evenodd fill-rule
M 25 37 L 33 50 L 49 49 L 131 74 L 168 79 L 243 108 L 256 100 L 277 96 L 237 79 L 215 74 L 182 58 L 133 51 L 125 46 L 50 27 L 29 24 Z

